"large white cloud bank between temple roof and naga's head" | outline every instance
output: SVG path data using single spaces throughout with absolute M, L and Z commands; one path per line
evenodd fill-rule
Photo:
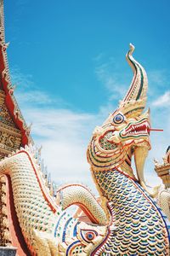
M 42 145 L 42 158 L 58 184 L 85 183 L 94 187 L 86 150 L 99 116 L 75 113 L 67 109 L 23 106 L 25 117 L 32 122 L 31 134 Z

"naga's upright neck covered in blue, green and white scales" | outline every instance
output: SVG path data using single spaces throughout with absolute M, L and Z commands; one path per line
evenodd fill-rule
M 167 227 L 139 184 L 116 169 L 95 171 L 94 178 L 100 194 L 109 202 L 111 219 L 116 225 L 115 232 L 105 241 L 103 252 L 110 254 L 95 255 L 150 255 L 156 249 L 161 253 L 167 251 Z

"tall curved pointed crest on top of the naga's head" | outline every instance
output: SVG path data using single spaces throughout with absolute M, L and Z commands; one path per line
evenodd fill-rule
M 142 113 L 146 104 L 146 92 L 148 88 L 148 79 L 142 67 L 138 61 L 133 58 L 134 51 L 133 44 L 130 44 L 130 49 L 127 52 L 127 63 L 133 69 L 133 80 L 130 84 L 129 90 L 127 90 L 126 96 L 120 103 L 120 108 L 124 108 L 124 113 L 132 113 L 135 109 L 137 115 Z M 136 111 L 138 110 L 138 111 Z M 135 113 L 133 113 L 135 115 Z

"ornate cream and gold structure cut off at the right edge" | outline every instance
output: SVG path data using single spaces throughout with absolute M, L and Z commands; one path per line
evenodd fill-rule
M 170 221 L 170 146 L 163 157 L 163 163 L 155 161 L 155 171 L 161 177 L 164 188 L 158 193 L 157 203 Z

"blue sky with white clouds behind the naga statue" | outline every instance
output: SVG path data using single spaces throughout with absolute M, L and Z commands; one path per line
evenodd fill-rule
M 6 0 L 4 8 L 15 96 L 52 177 L 93 187 L 86 148 L 133 78 L 125 61 L 133 43 L 148 73 L 152 126 L 164 129 L 151 136 L 145 171 L 158 182 L 152 160 L 170 144 L 170 2 Z

